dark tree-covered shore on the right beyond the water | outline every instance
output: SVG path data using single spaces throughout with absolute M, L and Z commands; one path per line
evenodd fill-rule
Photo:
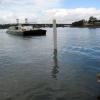
M 87 28 L 100 28 L 100 20 L 98 20 L 96 17 L 91 16 L 89 20 L 80 20 L 73 22 L 71 27 L 87 27 Z

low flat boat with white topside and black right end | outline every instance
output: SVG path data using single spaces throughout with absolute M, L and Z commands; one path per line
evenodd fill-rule
M 11 26 L 8 28 L 7 33 L 22 36 L 42 36 L 46 35 L 46 30 L 40 28 L 33 28 L 32 26 Z

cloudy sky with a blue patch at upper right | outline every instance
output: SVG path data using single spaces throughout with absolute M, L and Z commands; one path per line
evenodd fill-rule
M 72 23 L 90 16 L 100 19 L 100 0 L 0 0 L 0 24 Z

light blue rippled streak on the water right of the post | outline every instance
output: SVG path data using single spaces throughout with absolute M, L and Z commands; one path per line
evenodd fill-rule
M 67 52 L 92 57 L 94 59 L 100 59 L 100 48 L 71 46 L 71 47 L 67 47 L 66 49 L 64 48 L 62 50 L 62 53 L 64 53 L 64 54 Z

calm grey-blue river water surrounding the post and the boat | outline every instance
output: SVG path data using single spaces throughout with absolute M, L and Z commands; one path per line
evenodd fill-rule
M 0 30 L 0 100 L 99 100 L 100 29 L 58 28 L 20 37 Z

